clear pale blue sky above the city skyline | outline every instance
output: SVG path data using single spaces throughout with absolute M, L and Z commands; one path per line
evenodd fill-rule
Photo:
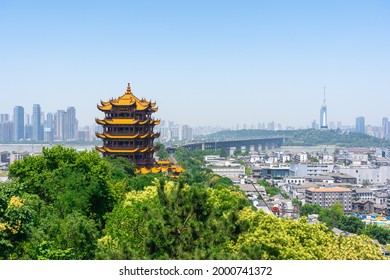
M 100 99 L 157 101 L 157 118 L 232 127 L 390 117 L 390 1 L 0 0 L 0 113 Z

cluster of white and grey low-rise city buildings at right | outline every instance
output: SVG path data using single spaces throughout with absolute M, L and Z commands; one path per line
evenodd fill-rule
M 255 179 L 278 186 L 291 200 L 346 213 L 390 215 L 388 149 L 323 152 L 263 151 L 242 157 Z

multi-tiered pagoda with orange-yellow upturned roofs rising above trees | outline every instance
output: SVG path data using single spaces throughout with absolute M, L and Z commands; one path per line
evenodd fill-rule
M 154 126 L 160 124 L 160 120 L 152 118 L 158 110 L 155 102 L 137 98 L 128 84 L 122 96 L 100 104 L 97 107 L 104 113 L 104 119 L 96 118 L 96 123 L 103 126 L 103 132 L 96 132 L 96 136 L 102 139 L 103 146 L 96 149 L 103 156 L 125 157 L 143 174 L 169 172 L 171 177 L 177 177 L 183 171 L 180 166 L 169 161 L 156 162 L 153 157 L 158 149 L 153 142 L 160 136 L 153 132 Z

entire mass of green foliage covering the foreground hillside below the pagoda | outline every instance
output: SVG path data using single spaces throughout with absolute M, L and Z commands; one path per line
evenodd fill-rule
M 14 163 L 0 185 L 0 259 L 383 258 L 365 235 L 257 211 L 202 167 L 203 152 L 175 157 L 189 170 L 176 181 L 61 146 Z

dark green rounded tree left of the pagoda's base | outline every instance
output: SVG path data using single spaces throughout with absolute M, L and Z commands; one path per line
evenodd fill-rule
M 102 225 L 114 203 L 109 163 L 97 151 L 77 152 L 59 145 L 43 148 L 42 153 L 10 165 L 10 178 L 53 204 L 61 215 L 81 211 Z

